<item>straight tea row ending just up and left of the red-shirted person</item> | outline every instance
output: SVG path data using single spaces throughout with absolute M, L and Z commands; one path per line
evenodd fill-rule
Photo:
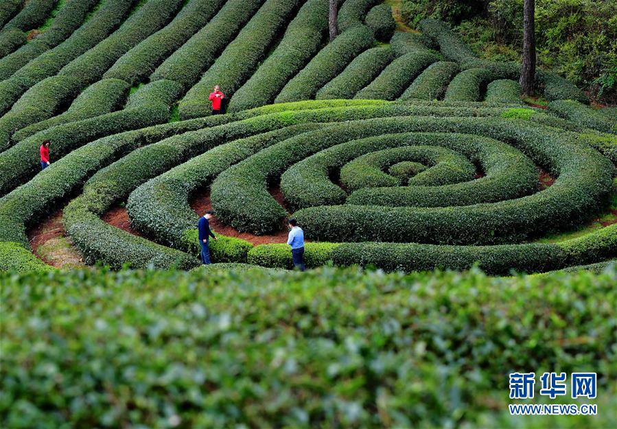
M 150 80 L 175 80 L 188 91 L 263 3 L 264 0 L 227 0 L 205 27 L 152 73 Z

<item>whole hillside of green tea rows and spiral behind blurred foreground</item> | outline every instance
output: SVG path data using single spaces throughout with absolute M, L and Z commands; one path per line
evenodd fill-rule
M 212 244 L 217 262 L 288 268 L 275 240 L 289 216 L 309 266 L 500 274 L 614 258 L 616 225 L 534 242 L 611 204 L 614 111 L 545 72 L 548 110 L 529 108 L 518 65 L 476 58 L 438 21 L 392 36 L 377 3 L 342 3 L 327 44 L 326 0 L 58 1 L 27 25 L 36 1 L 7 8 L 0 38 L 49 26 L 0 53 L 0 268 L 46 269 L 27 231 L 60 208 L 88 263 L 193 268 L 196 195 L 235 235 Z M 214 84 L 227 115 L 209 116 Z M 40 172 L 43 139 L 54 162 Z M 539 189 L 538 169 L 555 183 Z M 102 219 L 125 203 L 137 234 Z

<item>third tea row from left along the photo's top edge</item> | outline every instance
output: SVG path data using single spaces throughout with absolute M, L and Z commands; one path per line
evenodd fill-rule
M 69 1 L 60 9 L 51 26 L 16 51 L 0 60 L 0 80 L 9 78 L 30 60 L 59 45 L 77 30 L 100 0 Z

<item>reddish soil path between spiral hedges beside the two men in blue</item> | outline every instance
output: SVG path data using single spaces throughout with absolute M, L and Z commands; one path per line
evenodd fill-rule
M 285 196 L 281 192 L 279 187 L 272 187 L 268 189 L 270 195 L 272 195 L 277 202 L 286 207 Z M 212 209 L 212 204 L 210 202 L 210 192 L 209 189 L 205 189 L 194 196 L 191 197 L 189 201 L 189 205 L 191 209 L 197 213 L 198 216 L 203 216 L 203 214 Z M 272 235 L 255 235 L 251 233 L 241 233 L 237 231 L 237 229 L 230 227 L 222 223 L 216 217 L 210 221 L 210 227 L 216 231 L 216 233 L 226 235 L 227 237 L 236 237 L 241 238 L 242 240 L 246 240 L 251 244 L 258 246 L 259 244 L 273 244 L 273 243 L 286 243 L 287 242 L 287 225 L 281 224 L 281 230 L 278 233 Z M 308 242 L 308 240 L 305 240 Z

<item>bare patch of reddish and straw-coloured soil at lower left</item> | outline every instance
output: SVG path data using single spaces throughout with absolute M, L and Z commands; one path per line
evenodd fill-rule
M 81 255 L 73 247 L 62 225 L 62 210 L 45 218 L 36 227 L 27 231 L 32 253 L 45 264 L 56 268 L 83 268 Z

